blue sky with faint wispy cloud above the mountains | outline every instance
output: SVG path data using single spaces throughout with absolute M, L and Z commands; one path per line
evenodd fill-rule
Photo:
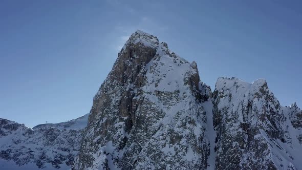
M 301 1 L 1 1 L 0 118 L 29 127 L 89 113 L 137 29 L 220 76 L 265 78 L 302 106 Z

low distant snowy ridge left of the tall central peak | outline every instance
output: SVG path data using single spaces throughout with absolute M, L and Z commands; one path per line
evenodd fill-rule
M 88 116 L 33 129 L 0 119 L 0 169 L 70 169 Z

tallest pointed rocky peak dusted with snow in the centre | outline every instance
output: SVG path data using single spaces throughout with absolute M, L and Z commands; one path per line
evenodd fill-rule
M 199 103 L 209 94 L 199 84 L 195 62 L 157 37 L 135 32 L 94 97 L 73 168 L 206 168 L 209 147 Z

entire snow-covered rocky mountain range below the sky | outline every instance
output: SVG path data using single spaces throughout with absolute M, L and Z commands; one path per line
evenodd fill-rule
M 282 107 L 264 79 L 221 77 L 212 93 L 195 62 L 139 30 L 89 115 L 33 129 L 0 125 L 0 168 L 302 169 L 295 103 Z

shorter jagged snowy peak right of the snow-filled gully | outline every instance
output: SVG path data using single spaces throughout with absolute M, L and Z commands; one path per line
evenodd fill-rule
M 264 79 L 219 78 L 213 92 L 216 169 L 302 169 L 302 112 Z

